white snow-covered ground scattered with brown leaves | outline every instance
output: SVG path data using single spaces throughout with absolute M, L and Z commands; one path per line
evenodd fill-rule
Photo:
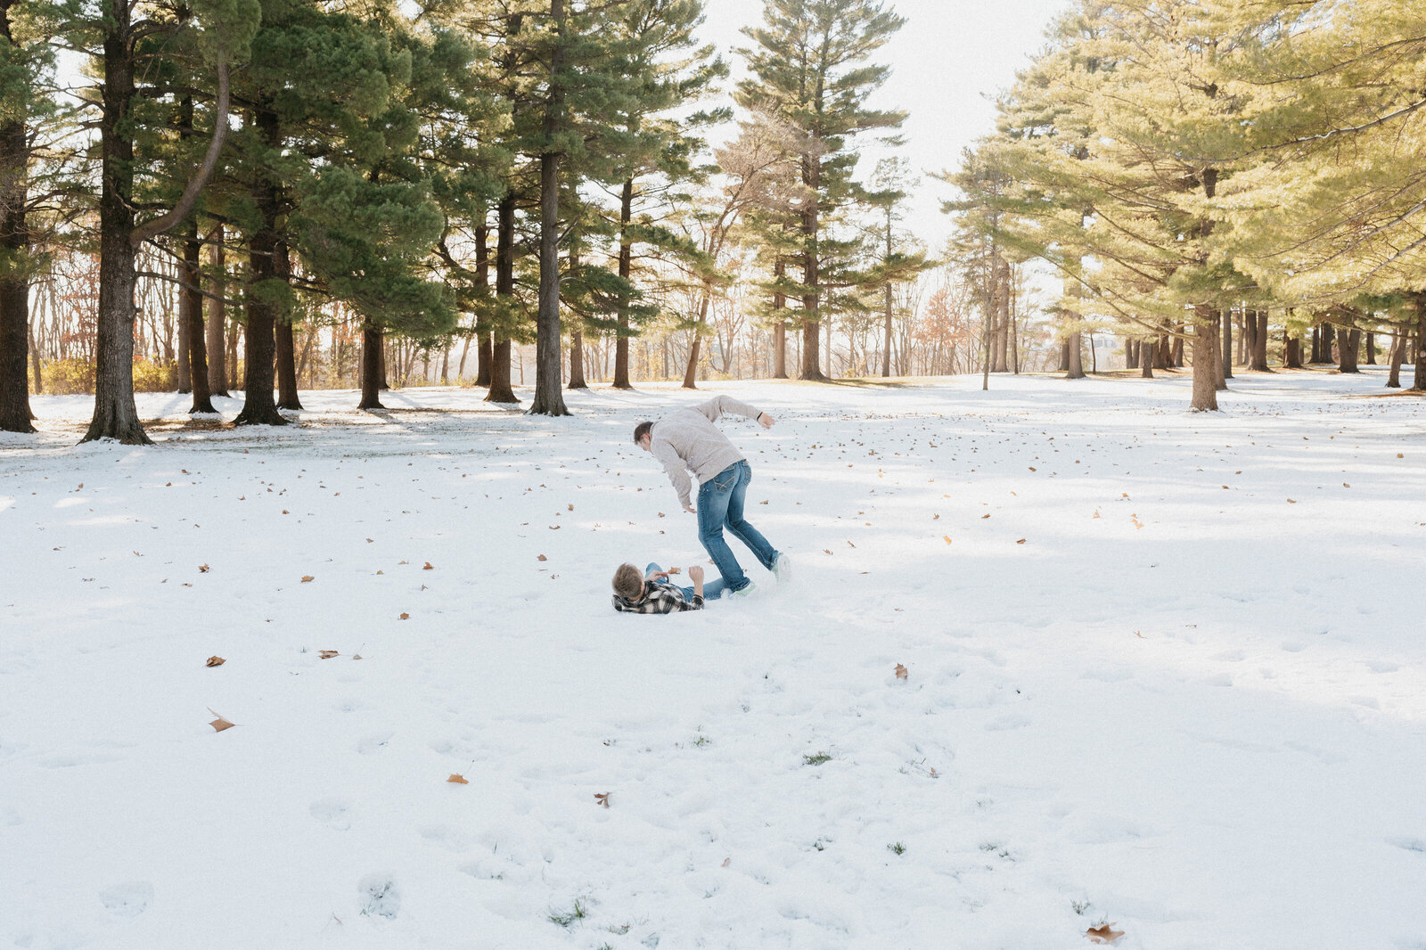
M 154 395 L 141 449 L 37 398 L 0 947 L 1426 947 L 1426 402 L 1382 382 Z M 620 561 L 703 561 L 633 424 L 716 392 L 779 418 L 724 428 L 796 576 L 734 542 L 759 595 L 617 615 Z

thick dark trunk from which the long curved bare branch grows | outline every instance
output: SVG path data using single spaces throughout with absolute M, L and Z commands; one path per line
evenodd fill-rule
M 104 4 L 104 81 L 100 87 L 98 320 L 94 418 L 81 441 L 151 445 L 134 405 L 134 98 L 128 0 Z

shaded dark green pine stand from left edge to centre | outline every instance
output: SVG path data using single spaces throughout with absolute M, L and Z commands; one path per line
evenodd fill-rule
M 904 120 L 867 106 L 903 19 L 767 0 L 723 90 L 703 14 L 0 0 L 0 429 L 33 431 L 47 369 L 94 392 L 86 439 L 130 444 L 135 372 L 194 412 L 241 389 L 240 425 L 285 424 L 301 381 L 354 379 L 379 408 L 432 358 L 515 404 L 519 347 L 529 411 L 562 415 L 593 365 L 629 387 L 649 328 L 682 342 L 686 385 L 709 351 L 729 369 L 733 300 L 760 339 L 737 358 L 766 375 L 789 354 L 834 372 L 834 322 L 844 371 L 874 352 L 890 372 L 898 295 L 931 264 L 900 227 L 904 164 L 856 168 Z

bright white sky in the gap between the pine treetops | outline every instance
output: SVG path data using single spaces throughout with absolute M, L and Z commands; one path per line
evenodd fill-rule
M 888 0 L 907 24 L 876 56 L 893 67 L 873 98 L 881 108 L 904 108 L 907 144 L 900 154 L 918 173 L 958 164 L 961 150 L 994 128 L 988 96 L 1008 87 L 1015 71 L 1044 44 L 1044 30 L 1071 0 Z M 740 60 L 729 50 L 746 46 L 739 30 L 761 23 L 761 0 L 709 0 L 703 39 L 724 51 L 734 73 Z M 867 177 L 877 154 L 857 170 Z M 948 234 L 941 200 L 950 188 L 923 180 L 907 210 L 906 227 L 938 250 Z

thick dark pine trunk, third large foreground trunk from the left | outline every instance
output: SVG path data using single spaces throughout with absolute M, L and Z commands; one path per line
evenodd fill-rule
M 251 121 L 262 144 L 275 154 L 281 145 L 277 113 L 271 103 L 252 110 Z M 244 334 L 242 411 L 235 425 L 287 425 L 272 401 L 274 352 L 277 347 L 277 304 L 262 290 L 264 281 L 278 280 L 277 272 L 277 183 L 267 170 L 258 168 L 252 183 L 252 200 L 260 225 L 248 235 L 248 285 L 244 288 L 247 332 Z

